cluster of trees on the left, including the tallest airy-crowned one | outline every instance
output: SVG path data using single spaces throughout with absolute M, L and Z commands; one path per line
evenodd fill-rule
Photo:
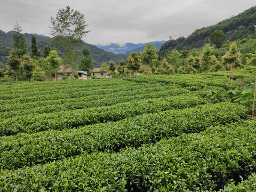
M 50 81 L 53 77 L 57 81 L 57 71 L 60 65 L 66 65 L 73 70 L 73 76 L 78 78 L 78 60 L 81 59 L 81 68 L 89 70 L 93 68 L 90 51 L 87 47 L 82 49 L 81 54 L 76 47 L 82 43 L 82 37 L 89 31 L 85 30 L 84 15 L 78 11 L 66 9 L 58 11 L 56 18 L 51 18 L 51 35 L 56 38 L 54 45 L 63 47 L 65 50 L 63 59 L 59 57 L 56 50 L 52 50 L 50 45 L 44 47 L 44 57 L 39 58 L 40 52 L 36 44 L 36 37 L 31 37 L 31 57 L 27 52 L 26 40 L 21 34 L 21 27 L 17 23 L 14 26 L 12 35 L 12 50 L 7 61 L 7 68 L 1 68 L 0 77 L 11 78 L 15 76 L 15 81 L 33 78 L 36 81 Z M 1 66 L 0 66 L 1 67 Z

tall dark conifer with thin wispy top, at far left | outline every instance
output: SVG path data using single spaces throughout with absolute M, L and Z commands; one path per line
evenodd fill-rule
M 12 34 L 12 54 L 17 55 L 21 58 L 22 55 L 27 54 L 27 44 L 26 39 L 23 34 L 21 34 L 21 27 L 19 23 L 13 27 L 14 33 Z

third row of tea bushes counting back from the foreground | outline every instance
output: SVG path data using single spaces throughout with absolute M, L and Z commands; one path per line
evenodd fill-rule
M 159 93 L 162 95 L 163 92 Z M 135 95 L 138 97 L 139 95 Z M 145 94 L 146 97 L 150 94 Z M 125 97 L 116 99 L 115 102 Z M 128 98 L 129 99 L 129 98 Z M 131 98 L 130 98 L 131 99 Z M 112 100 L 113 101 L 113 100 Z M 185 103 L 186 102 L 186 103 Z M 132 117 L 144 113 L 155 113 L 157 111 L 186 108 L 204 103 L 202 98 L 197 97 L 174 97 L 133 100 L 133 102 L 119 103 L 117 105 L 86 108 L 79 110 L 64 110 L 47 114 L 30 114 L 2 119 L 0 122 L 0 135 L 12 135 L 20 132 L 33 133 L 45 130 L 62 130 L 108 121 L 118 121 L 123 118 Z M 111 103 L 114 104 L 114 103 Z M 89 107 L 88 105 L 86 105 Z M 30 110 L 29 110 L 30 112 Z

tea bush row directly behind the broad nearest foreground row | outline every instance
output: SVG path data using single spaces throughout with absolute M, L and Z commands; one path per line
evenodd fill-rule
M 186 105 L 186 102 L 188 100 L 183 101 L 183 105 Z M 161 103 L 158 106 L 157 108 L 161 108 Z M 51 130 L 2 137 L 0 140 L 1 168 L 15 169 L 52 162 L 85 151 L 91 153 L 105 150 L 118 151 L 127 146 L 139 147 L 143 143 L 154 143 L 163 138 L 200 132 L 209 126 L 224 125 L 248 118 L 250 117 L 248 113 L 248 109 L 244 106 L 219 103 L 140 115 L 119 122 L 79 127 L 76 130 Z M 119 115 L 122 116 L 122 114 L 121 110 Z

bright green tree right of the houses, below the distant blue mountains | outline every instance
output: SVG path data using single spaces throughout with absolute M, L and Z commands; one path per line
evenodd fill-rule
M 148 43 L 143 52 L 140 52 L 142 63 L 148 66 L 148 84 L 149 84 L 149 65 L 153 60 L 157 60 L 157 47 L 152 43 Z

